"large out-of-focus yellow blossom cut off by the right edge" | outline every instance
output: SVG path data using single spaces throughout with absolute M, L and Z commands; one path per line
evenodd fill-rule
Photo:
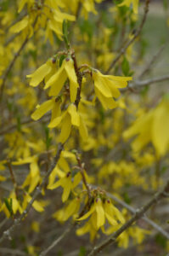
M 155 146 L 157 154 L 166 154 L 169 148 L 168 111 L 169 101 L 164 99 L 155 109 L 144 113 L 124 132 L 125 138 L 138 135 L 132 142 L 134 150 L 138 151 L 151 142 Z

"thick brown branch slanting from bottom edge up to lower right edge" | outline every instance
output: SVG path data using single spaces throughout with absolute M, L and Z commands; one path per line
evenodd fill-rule
M 114 243 L 116 241 L 116 238 L 121 235 L 122 232 L 127 230 L 136 220 L 141 218 L 145 212 L 149 210 L 151 206 L 153 206 L 155 203 L 157 203 L 159 200 L 161 200 L 162 197 L 169 195 L 169 181 L 166 183 L 166 186 L 161 189 L 158 193 L 155 194 L 155 196 L 146 204 L 144 207 L 141 207 L 138 209 L 134 216 L 130 218 L 126 224 L 123 224 L 119 230 L 116 230 L 115 233 L 110 236 L 108 239 L 103 241 L 98 247 L 94 247 L 93 250 L 88 253 L 88 256 L 93 256 L 102 251 L 105 247 L 109 246 L 110 244 Z

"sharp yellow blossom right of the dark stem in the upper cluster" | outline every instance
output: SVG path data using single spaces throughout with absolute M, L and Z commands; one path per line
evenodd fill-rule
M 127 81 L 132 80 L 131 77 L 104 75 L 96 69 L 93 70 L 92 77 L 96 96 L 98 96 L 105 109 L 116 107 L 116 102 L 113 98 L 120 96 L 118 88 L 126 87 Z

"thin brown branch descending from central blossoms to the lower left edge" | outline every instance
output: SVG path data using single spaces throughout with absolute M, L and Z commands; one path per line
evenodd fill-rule
M 37 189 L 34 191 L 31 201 L 29 202 L 29 204 L 27 205 L 26 209 L 24 212 L 22 212 L 22 214 L 20 215 L 19 218 L 14 219 L 14 224 L 8 229 L 5 230 L 3 232 L 3 236 L 0 238 L 0 243 L 6 238 L 6 237 L 10 237 L 12 231 L 15 229 L 15 227 L 20 224 L 20 222 L 22 221 L 22 219 L 25 218 L 25 216 L 27 215 L 27 213 L 30 211 L 31 206 L 33 204 L 33 202 L 37 199 L 37 196 L 41 194 L 41 191 L 43 189 L 43 187 L 45 186 L 45 184 L 48 181 L 48 177 L 51 174 L 51 172 L 54 170 L 54 166 L 56 166 L 56 164 L 59 161 L 59 156 L 63 150 L 64 146 L 63 144 L 59 143 L 59 147 L 58 147 L 58 151 L 57 154 L 54 157 L 53 163 L 51 164 L 50 168 L 48 169 L 48 172 L 46 173 L 45 177 L 43 177 L 42 183 L 40 186 L 37 187 Z

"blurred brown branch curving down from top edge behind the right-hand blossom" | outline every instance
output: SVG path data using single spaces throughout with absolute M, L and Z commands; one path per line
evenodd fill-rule
M 107 69 L 107 71 L 105 73 L 109 73 L 110 72 L 110 70 L 115 66 L 115 63 L 117 61 L 119 61 L 121 56 L 126 53 L 128 47 L 135 41 L 136 38 L 138 38 L 139 34 L 142 32 L 145 20 L 147 19 L 147 14 L 149 12 L 149 2 L 150 2 L 150 0 L 146 0 L 146 2 L 145 2 L 144 17 L 143 17 L 143 19 L 142 19 L 142 21 L 140 23 L 140 26 L 138 27 L 138 30 L 135 32 L 133 38 L 130 41 L 128 41 L 127 44 L 124 45 L 124 47 L 121 48 L 119 54 L 115 57 L 115 60 L 113 62 L 111 62 L 110 67 Z

